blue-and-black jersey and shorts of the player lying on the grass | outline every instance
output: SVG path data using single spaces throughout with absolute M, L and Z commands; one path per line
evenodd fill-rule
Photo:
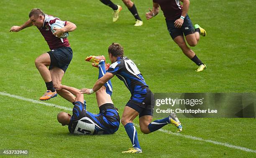
M 78 135 L 105 135 L 115 133 L 120 125 L 118 109 L 106 103 L 99 107 L 100 113 L 86 111 L 86 102 L 74 102 L 69 132 Z M 84 107 L 84 108 L 83 108 Z M 77 118 L 75 118 L 77 116 Z M 81 125 L 81 122 L 82 123 Z

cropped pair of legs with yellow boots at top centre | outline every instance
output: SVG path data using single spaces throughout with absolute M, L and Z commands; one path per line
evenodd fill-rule
M 103 4 L 108 5 L 110 8 L 112 8 L 113 11 L 113 22 L 116 22 L 119 18 L 119 12 L 122 10 L 122 7 L 120 5 L 115 5 L 111 0 L 100 0 Z M 126 7 L 130 10 L 132 15 L 135 18 L 135 24 L 134 26 L 141 26 L 143 25 L 143 22 L 138 15 L 138 11 L 135 7 L 135 4 L 131 0 L 123 0 L 123 3 L 126 5 Z

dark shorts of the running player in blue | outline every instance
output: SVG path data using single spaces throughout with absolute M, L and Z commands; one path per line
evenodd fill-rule
M 139 113 L 139 117 L 145 115 L 153 116 L 155 106 L 154 94 L 148 87 L 146 87 L 146 90 L 146 94 L 139 94 L 140 98 L 143 99 L 141 102 L 134 99 L 135 97 L 138 97 L 138 94 L 133 94 L 126 104 L 126 106 L 136 110 Z

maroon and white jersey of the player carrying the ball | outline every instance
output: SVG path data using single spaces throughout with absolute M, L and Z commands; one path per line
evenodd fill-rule
M 60 47 L 70 47 L 67 38 L 58 38 L 52 34 L 51 24 L 53 23 L 59 23 L 65 26 L 67 24 L 67 21 L 61 21 L 59 18 L 44 14 L 43 27 L 38 28 L 38 30 L 44 36 L 44 39 L 47 42 L 49 48 L 53 50 Z

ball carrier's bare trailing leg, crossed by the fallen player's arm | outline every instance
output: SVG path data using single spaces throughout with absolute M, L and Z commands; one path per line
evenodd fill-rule
M 50 72 L 54 87 L 60 86 L 62 77 L 64 76 L 64 71 L 59 67 L 54 66 L 50 69 Z M 57 91 L 57 93 L 69 102 L 73 103 L 75 101 L 74 95 L 65 89 L 61 89 L 60 91 Z

